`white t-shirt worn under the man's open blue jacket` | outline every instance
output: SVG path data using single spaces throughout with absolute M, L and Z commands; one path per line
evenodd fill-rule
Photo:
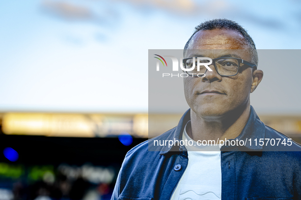
M 193 145 L 185 145 L 188 153 L 187 168 L 175 187 L 171 200 L 221 199 L 222 170 L 219 145 L 213 147 L 217 151 L 202 151 L 204 146 L 199 146 L 187 135 L 186 126 L 182 140 L 185 139 L 192 140 Z

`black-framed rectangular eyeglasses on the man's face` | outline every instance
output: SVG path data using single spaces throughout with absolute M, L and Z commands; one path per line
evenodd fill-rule
M 200 60 L 201 63 L 208 63 L 209 60 Z M 212 59 L 212 64 L 214 68 L 220 76 L 235 76 L 239 72 L 240 64 L 247 65 L 248 68 L 256 68 L 257 65 L 245 61 L 240 58 L 233 58 L 233 57 L 220 57 Z M 210 65 L 212 65 L 210 64 Z M 205 74 L 207 72 L 207 68 L 204 65 L 200 65 L 200 70 L 197 69 L 197 57 L 195 57 L 195 63 L 193 57 L 191 58 L 184 58 L 183 59 L 183 67 L 185 69 L 192 69 L 191 71 L 186 71 L 189 76 L 197 76 L 197 74 Z

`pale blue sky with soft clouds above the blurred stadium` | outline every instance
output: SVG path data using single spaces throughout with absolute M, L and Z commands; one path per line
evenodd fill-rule
M 0 112 L 147 112 L 148 49 L 182 49 L 196 25 L 220 17 L 258 49 L 299 49 L 300 13 L 299 1 L 1 1 Z M 288 86 L 270 87 L 279 105 L 261 101 L 266 91 L 255 105 L 269 113 L 299 99 L 278 95 Z M 282 109 L 301 112 L 296 101 Z

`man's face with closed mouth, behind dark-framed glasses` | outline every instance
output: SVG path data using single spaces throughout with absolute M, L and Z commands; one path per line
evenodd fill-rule
M 244 38 L 236 31 L 203 30 L 190 41 L 185 57 L 236 57 L 251 62 L 247 49 Z M 218 75 L 213 65 L 210 68 L 213 71 L 207 70 L 203 78 L 184 78 L 185 97 L 191 110 L 200 117 L 215 118 L 249 104 L 252 68 L 240 65 L 238 74 L 230 77 Z

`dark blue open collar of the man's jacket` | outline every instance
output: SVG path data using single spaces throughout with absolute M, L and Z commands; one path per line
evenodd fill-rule
M 185 124 L 190 120 L 190 109 L 188 109 L 184 115 L 181 117 L 178 125 L 176 126 L 176 128 L 173 130 L 173 132 L 171 132 L 171 134 L 169 135 L 169 137 L 167 138 L 167 140 L 175 140 L 175 141 L 180 141 L 182 140 L 182 134 L 183 134 L 183 130 L 185 127 Z M 250 109 L 250 116 L 249 119 L 247 121 L 247 124 L 245 124 L 244 128 L 242 129 L 240 135 L 238 137 L 236 137 L 235 139 L 231 139 L 231 140 L 243 140 L 244 143 L 247 140 L 247 143 L 245 143 L 244 146 L 227 146 L 224 145 L 221 148 L 221 151 L 231 151 L 231 150 L 239 150 L 239 151 L 261 151 L 262 150 L 262 146 L 257 145 L 255 146 L 254 143 L 257 139 L 257 142 L 259 142 L 259 139 L 264 138 L 265 136 L 265 125 L 262 121 L 260 121 L 258 115 L 256 114 L 254 108 L 251 106 Z M 253 144 L 252 146 L 250 145 L 250 140 L 252 141 L 251 144 Z M 230 141 L 231 141 L 230 140 Z M 168 152 L 170 152 L 172 150 L 172 148 L 174 148 L 175 146 L 165 146 L 162 148 L 162 150 L 160 151 L 160 155 L 164 155 Z M 185 146 L 179 146 L 179 151 L 186 151 Z

